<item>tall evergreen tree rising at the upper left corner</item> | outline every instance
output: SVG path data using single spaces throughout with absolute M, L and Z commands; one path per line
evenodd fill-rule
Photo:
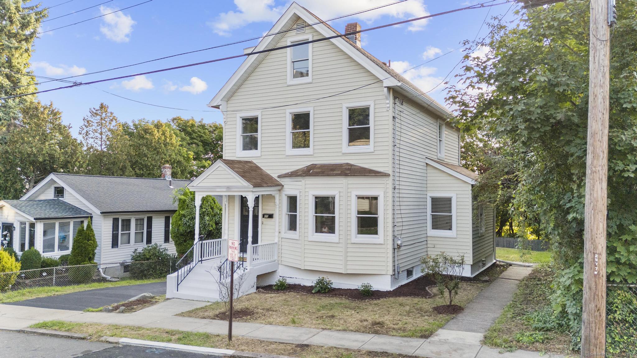
M 29 1 L 0 0 L 0 97 L 25 94 L 36 89 L 35 78 L 19 75 L 28 71 L 33 53 L 33 41 L 38 36 L 39 23 L 48 15 L 41 4 L 24 6 Z M 6 125 L 20 117 L 20 107 L 32 101 L 23 96 L 0 100 L 0 136 Z

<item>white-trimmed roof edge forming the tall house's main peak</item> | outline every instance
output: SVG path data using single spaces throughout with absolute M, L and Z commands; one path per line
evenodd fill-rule
M 285 13 L 283 13 L 283 15 L 276 21 L 270 31 L 268 31 L 268 34 L 273 35 L 262 38 L 252 52 L 259 52 L 274 48 L 280 41 L 280 39 L 285 36 L 285 32 L 287 32 L 285 31 L 285 29 L 290 29 L 290 31 L 292 30 L 293 24 L 296 22 L 296 17 L 302 18 L 308 24 L 313 24 L 312 27 L 314 27 L 325 37 L 341 35 L 340 32 L 336 31 L 336 29 L 328 25 L 326 22 L 318 18 L 316 15 L 308 11 L 303 6 L 300 6 L 297 3 L 292 3 L 290 4 L 290 7 L 287 8 Z M 278 33 L 280 31 L 284 32 Z M 393 69 L 389 68 L 389 66 L 387 66 L 386 64 L 383 64 L 382 61 L 369 54 L 369 52 L 367 52 L 366 50 L 363 50 L 361 47 L 355 45 L 355 43 L 345 38 L 345 36 L 331 38 L 327 41 L 331 41 L 332 43 L 334 43 L 334 45 L 341 48 L 341 50 L 350 55 L 355 61 L 359 62 L 362 66 L 364 66 L 371 73 L 377 76 L 380 80 L 383 81 L 383 85 L 385 87 L 392 87 L 396 88 L 397 90 L 402 90 L 404 94 L 406 94 L 406 96 L 409 96 L 414 101 L 420 102 L 424 106 L 427 106 L 426 108 L 434 111 L 436 114 L 440 115 L 440 117 L 452 117 L 452 114 L 445 106 L 436 102 L 433 98 L 427 96 L 427 94 L 424 94 L 423 90 L 420 90 L 412 82 L 401 76 Z M 225 101 L 227 101 L 227 99 L 229 99 L 229 97 L 234 94 L 234 92 L 241 86 L 241 84 L 246 80 L 250 73 L 254 71 L 259 63 L 261 63 L 261 61 L 266 57 L 267 54 L 268 52 L 249 55 L 245 59 L 245 61 L 243 61 L 241 66 L 229 78 L 229 80 L 224 84 L 224 86 L 219 90 L 215 97 L 211 99 L 208 106 L 213 108 L 220 108 L 222 111 L 224 111 Z M 387 101 L 389 101 L 389 97 L 387 98 Z

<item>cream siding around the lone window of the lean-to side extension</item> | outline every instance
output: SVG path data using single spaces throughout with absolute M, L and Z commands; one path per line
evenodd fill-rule
M 427 238 L 427 252 L 430 255 L 445 254 L 459 257 L 464 255 L 467 264 L 473 263 L 471 227 L 471 184 L 449 175 L 444 171 L 427 166 L 427 194 L 455 194 L 456 237 Z

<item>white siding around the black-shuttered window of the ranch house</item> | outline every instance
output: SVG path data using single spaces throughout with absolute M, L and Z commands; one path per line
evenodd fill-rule
M 140 250 L 146 247 L 146 233 L 144 232 L 144 241 L 143 243 L 133 244 L 133 237 L 131 233 L 131 244 L 130 245 L 120 245 L 118 248 L 111 248 L 111 239 L 113 233 L 113 218 L 146 218 L 148 216 L 153 217 L 153 229 L 152 229 L 152 243 L 157 243 L 162 245 L 163 247 L 168 248 L 169 254 L 175 254 L 175 244 L 173 241 L 170 243 L 164 243 L 164 217 L 171 216 L 173 213 L 134 213 L 134 214 L 126 214 L 126 215 L 103 215 L 103 235 L 102 235 L 102 260 L 103 263 L 108 262 L 121 262 L 121 261 L 129 261 L 131 259 L 132 251 L 135 248 L 139 248 Z M 131 229 L 134 226 L 134 221 L 131 220 Z

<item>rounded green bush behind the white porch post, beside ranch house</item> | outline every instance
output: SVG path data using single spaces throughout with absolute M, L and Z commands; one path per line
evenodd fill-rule
M 171 220 L 170 236 L 175 241 L 179 256 L 184 255 L 195 237 L 195 193 L 188 188 L 177 189 L 175 199 L 177 211 Z M 217 199 L 205 196 L 199 206 L 199 235 L 203 240 L 221 238 L 222 208 Z

